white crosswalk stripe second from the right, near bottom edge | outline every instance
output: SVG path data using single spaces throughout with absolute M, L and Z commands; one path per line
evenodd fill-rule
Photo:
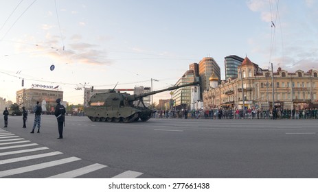
M 95 164 L 89 165 L 87 167 L 82 167 L 80 169 L 75 169 L 73 171 L 60 173 L 58 175 L 51 176 L 49 178 L 76 178 L 78 176 L 82 176 L 82 175 L 84 175 L 86 173 L 90 173 L 92 171 L 96 171 L 96 170 L 102 169 L 104 167 L 107 167 L 107 165 L 101 165 L 101 164 L 95 163 Z

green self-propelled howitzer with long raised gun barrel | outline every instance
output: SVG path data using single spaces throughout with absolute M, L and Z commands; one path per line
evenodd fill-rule
M 151 91 L 149 93 L 141 93 L 138 95 L 120 93 L 114 89 L 106 93 L 96 93 L 91 97 L 89 106 L 84 108 L 84 112 L 91 121 L 113 121 L 124 123 L 138 121 L 139 119 L 141 121 L 148 121 L 155 110 L 145 106 L 143 97 L 196 84 L 199 84 L 199 82 L 171 86 L 159 91 Z M 134 101 L 137 101 L 136 105 L 133 104 Z

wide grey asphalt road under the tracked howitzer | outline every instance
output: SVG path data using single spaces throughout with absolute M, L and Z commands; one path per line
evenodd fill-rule
M 67 117 L 64 139 L 56 139 L 54 116 L 44 115 L 41 133 L 30 134 L 33 119 L 29 115 L 27 129 L 23 129 L 22 117 L 9 117 L 8 128 L 0 129 L 0 177 L 63 178 L 61 173 L 93 165 L 97 167 L 95 171 L 73 177 L 318 178 L 318 119 L 150 119 L 104 123 L 87 117 Z M 3 141 L 8 134 L 5 131 L 38 145 L 5 148 L 24 144 Z M 12 158 L 44 153 L 1 156 L 34 147 L 48 147 L 46 153 L 62 154 L 3 164 Z M 33 170 L 60 159 L 73 161 Z M 33 169 L 10 174 L 21 167 Z

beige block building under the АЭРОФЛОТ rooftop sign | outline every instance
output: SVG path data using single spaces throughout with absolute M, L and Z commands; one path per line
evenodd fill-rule
M 46 109 L 52 111 L 58 98 L 63 101 L 63 91 L 41 88 L 23 88 L 16 91 L 16 104 L 21 104 L 26 110 L 33 110 L 36 101 L 39 101 L 41 104 L 46 103 Z

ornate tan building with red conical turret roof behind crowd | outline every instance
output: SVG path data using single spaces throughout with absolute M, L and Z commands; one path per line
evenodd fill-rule
M 228 78 L 216 88 L 203 93 L 206 108 L 308 108 L 318 105 L 318 71 L 297 70 L 289 73 L 280 67 L 277 72 L 262 70 L 245 58 L 238 66 L 238 78 Z M 272 78 L 273 77 L 273 78 Z M 214 79 L 210 77 L 210 79 Z

